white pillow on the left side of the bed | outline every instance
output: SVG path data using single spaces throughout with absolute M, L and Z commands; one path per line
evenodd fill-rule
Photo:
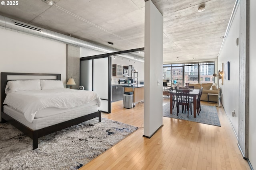
M 40 80 L 10 80 L 6 84 L 5 93 L 41 90 Z

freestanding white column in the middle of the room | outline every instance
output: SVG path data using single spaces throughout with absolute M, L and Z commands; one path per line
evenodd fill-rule
M 163 124 L 163 16 L 145 2 L 144 137 L 152 137 Z

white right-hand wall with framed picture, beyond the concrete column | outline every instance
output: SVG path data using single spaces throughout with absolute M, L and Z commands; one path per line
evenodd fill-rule
M 222 50 L 218 57 L 218 68 L 221 63 L 225 64 L 230 61 L 230 80 L 225 80 L 223 86 L 220 83 L 222 93 L 222 105 L 230 119 L 232 126 L 238 135 L 238 90 L 239 90 L 239 46 L 236 46 L 236 38 L 239 37 L 239 16 L 240 7 L 238 6 L 228 35 L 224 41 Z M 223 69 L 224 69 L 223 68 Z M 225 73 L 224 73 L 225 74 Z M 232 111 L 237 112 L 236 116 L 232 117 Z

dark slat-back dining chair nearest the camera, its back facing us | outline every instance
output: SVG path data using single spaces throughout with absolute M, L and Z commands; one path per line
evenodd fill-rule
M 177 89 L 176 90 L 176 98 L 177 98 L 177 116 L 179 113 L 180 105 L 182 106 L 182 113 L 183 113 L 183 106 L 185 106 L 184 111 L 186 112 L 186 107 L 188 108 L 191 107 L 191 100 L 189 99 L 189 89 Z M 190 113 L 192 115 L 192 109 L 190 108 Z

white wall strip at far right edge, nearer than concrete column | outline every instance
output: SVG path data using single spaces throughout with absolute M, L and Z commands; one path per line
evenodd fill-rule
M 250 0 L 250 53 L 249 53 L 249 160 L 254 170 L 256 170 L 256 1 Z

